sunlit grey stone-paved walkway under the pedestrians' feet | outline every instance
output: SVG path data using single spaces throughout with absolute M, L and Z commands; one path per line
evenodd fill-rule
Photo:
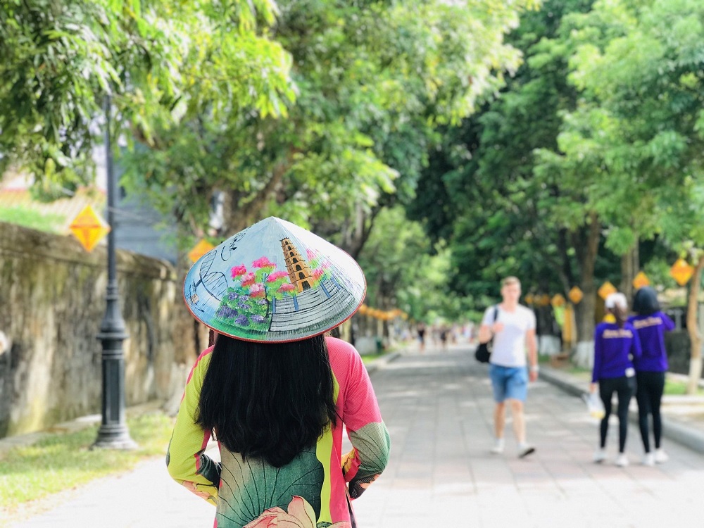
M 463 346 L 406 353 L 372 374 L 391 433 L 386 472 L 354 502 L 359 528 L 670 527 L 700 525 L 704 457 L 672 442 L 670 462 L 641 466 L 637 428 L 631 466 L 591 463 L 597 425 L 584 403 L 544 382 L 529 392 L 529 441 L 515 456 L 489 454 L 491 390 L 486 367 Z M 18 527 L 208 527 L 214 508 L 175 484 L 163 460 L 56 496 Z M 0 525 L 2 522 L 0 521 Z

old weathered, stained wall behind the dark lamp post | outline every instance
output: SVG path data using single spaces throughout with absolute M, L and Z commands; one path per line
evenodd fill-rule
M 101 408 L 106 249 L 0 222 L 0 437 Z M 127 405 L 182 391 L 207 343 L 161 260 L 118 251 Z

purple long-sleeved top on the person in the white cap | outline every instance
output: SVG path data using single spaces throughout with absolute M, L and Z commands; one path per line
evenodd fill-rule
M 641 341 L 634 327 L 629 322 L 623 328 L 615 322 L 599 323 L 594 331 L 591 382 L 625 376 L 626 369 L 633 368 L 631 356 L 636 361 L 641 357 Z

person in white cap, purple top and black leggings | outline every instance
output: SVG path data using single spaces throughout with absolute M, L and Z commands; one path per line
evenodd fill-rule
M 611 415 L 611 398 L 618 395 L 619 454 L 617 466 L 627 466 L 624 450 L 628 434 L 628 405 L 636 391 L 636 371 L 631 358 L 641 357 L 641 343 L 631 323 L 627 322 L 628 303 L 624 294 L 615 293 L 606 298 L 607 315 L 594 332 L 594 367 L 590 392 L 596 392 L 604 404 L 605 414 L 600 425 L 600 444 L 594 454 L 594 462 L 606 458 L 606 434 Z

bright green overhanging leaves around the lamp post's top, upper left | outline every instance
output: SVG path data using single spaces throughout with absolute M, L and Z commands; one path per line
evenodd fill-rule
M 276 113 L 289 63 L 258 31 L 275 12 L 270 0 L 3 1 L 0 170 L 29 170 L 49 196 L 91 180 L 106 94 L 116 132 L 147 144 L 199 106 Z

